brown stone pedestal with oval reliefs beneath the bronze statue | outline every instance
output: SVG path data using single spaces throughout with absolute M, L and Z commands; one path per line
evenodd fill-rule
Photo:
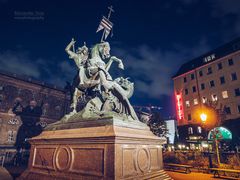
M 105 118 L 50 129 L 30 140 L 29 167 L 19 179 L 170 179 L 163 171 L 165 140 L 140 122 Z

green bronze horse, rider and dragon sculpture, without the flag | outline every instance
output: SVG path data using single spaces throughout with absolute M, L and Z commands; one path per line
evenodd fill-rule
M 109 43 L 96 44 L 91 49 L 90 57 L 85 45 L 79 48 L 77 53 L 70 51 L 70 47 L 74 43 L 75 41 L 72 40 L 66 48 L 70 58 L 74 59 L 79 68 L 78 74 L 72 83 L 71 106 L 73 110 L 70 114 L 77 112 L 76 107 L 79 97 L 90 94 L 92 97 L 90 97 L 86 107 L 81 111 L 84 117 L 92 117 L 93 115 L 103 116 L 112 112 L 118 115 L 124 114 L 130 116 L 133 120 L 138 120 L 128 100 L 133 94 L 134 84 L 122 77 L 113 80 L 108 72 L 113 62 L 117 62 L 118 67 L 124 69 L 121 59 L 110 56 Z M 108 60 L 108 62 L 105 63 L 103 60 Z

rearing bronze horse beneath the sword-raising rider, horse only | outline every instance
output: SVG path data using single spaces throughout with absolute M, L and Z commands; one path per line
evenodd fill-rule
M 77 100 L 82 96 L 83 91 L 87 88 L 94 88 L 99 84 L 105 85 L 105 88 L 109 86 L 112 81 L 111 75 L 108 73 L 112 62 L 118 62 L 118 67 L 124 69 L 122 60 L 112 56 L 107 64 L 102 59 L 108 59 L 110 57 L 110 46 L 108 42 L 96 44 L 91 49 L 91 58 L 87 60 L 84 66 L 79 68 L 79 71 L 84 73 L 78 73 L 72 83 L 72 104 L 73 112 L 76 112 Z M 81 69 L 82 68 L 82 69 Z M 81 77 L 80 77 L 81 75 Z M 81 79 L 81 81 L 80 81 Z M 80 83 L 81 82 L 81 83 Z

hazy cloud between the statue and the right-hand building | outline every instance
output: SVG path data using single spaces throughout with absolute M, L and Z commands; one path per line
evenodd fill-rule
M 142 45 L 129 49 L 113 48 L 112 54 L 123 58 L 126 74 L 134 80 L 139 97 L 160 99 L 173 93 L 171 77 L 180 65 L 207 50 L 209 46 L 203 38 L 194 47 L 175 44 L 173 50 L 164 51 Z

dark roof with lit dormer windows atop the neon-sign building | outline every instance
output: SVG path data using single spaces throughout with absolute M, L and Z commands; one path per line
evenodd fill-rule
M 213 61 L 216 61 L 238 50 L 240 50 L 240 37 L 183 64 L 172 78 L 180 76 L 184 73 L 187 73 L 193 69 L 206 65 Z

